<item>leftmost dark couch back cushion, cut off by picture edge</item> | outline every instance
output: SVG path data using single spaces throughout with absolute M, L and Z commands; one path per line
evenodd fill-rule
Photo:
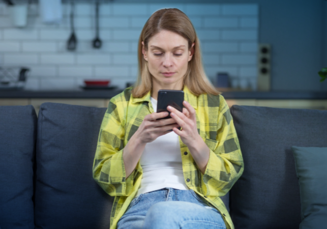
M 36 112 L 32 105 L 0 106 L 0 117 L 0 227 L 34 228 Z

